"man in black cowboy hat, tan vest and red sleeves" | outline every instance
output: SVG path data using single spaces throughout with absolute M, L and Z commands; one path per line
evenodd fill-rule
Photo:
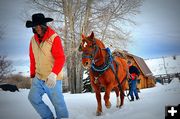
M 32 21 L 26 22 L 26 27 L 32 28 L 34 33 L 29 47 L 32 85 L 28 99 L 42 119 L 54 119 L 50 108 L 42 100 L 46 93 L 54 106 L 57 119 L 68 118 L 61 80 L 65 55 L 60 37 L 47 26 L 50 21 L 53 19 L 37 13 L 32 15 Z

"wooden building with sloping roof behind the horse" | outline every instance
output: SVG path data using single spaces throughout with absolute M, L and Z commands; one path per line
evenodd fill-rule
M 115 50 L 115 52 L 117 52 L 117 50 Z M 155 86 L 155 77 L 141 57 L 130 54 L 127 51 L 118 50 L 118 52 L 121 52 L 122 57 L 124 57 L 127 61 L 131 60 L 133 65 L 140 70 L 140 80 L 138 81 L 137 88 L 143 89 Z

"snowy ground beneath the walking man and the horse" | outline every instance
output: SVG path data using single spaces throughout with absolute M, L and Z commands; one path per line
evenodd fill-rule
M 28 92 L 25 89 L 15 93 L 0 91 L 0 119 L 40 119 L 27 99 Z M 103 101 L 103 115 L 97 117 L 94 93 L 64 93 L 70 119 L 165 119 L 165 106 L 180 104 L 179 79 L 167 85 L 156 84 L 154 88 L 143 89 L 139 95 L 140 100 L 134 102 L 125 98 L 125 105 L 118 109 L 115 93 L 112 92 L 111 108 L 106 109 Z M 46 95 L 43 100 L 53 110 Z

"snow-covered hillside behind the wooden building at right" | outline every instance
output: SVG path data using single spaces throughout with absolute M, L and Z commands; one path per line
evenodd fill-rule
M 153 75 L 180 73 L 180 55 L 145 60 Z

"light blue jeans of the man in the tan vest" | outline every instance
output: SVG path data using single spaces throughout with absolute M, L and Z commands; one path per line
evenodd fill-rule
M 69 114 L 62 94 L 62 81 L 57 80 L 54 88 L 48 88 L 45 81 L 35 77 L 32 80 L 31 89 L 28 95 L 29 101 L 42 119 L 53 119 L 53 113 L 42 100 L 44 93 L 48 95 L 50 101 L 52 102 L 57 119 L 68 118 Z

